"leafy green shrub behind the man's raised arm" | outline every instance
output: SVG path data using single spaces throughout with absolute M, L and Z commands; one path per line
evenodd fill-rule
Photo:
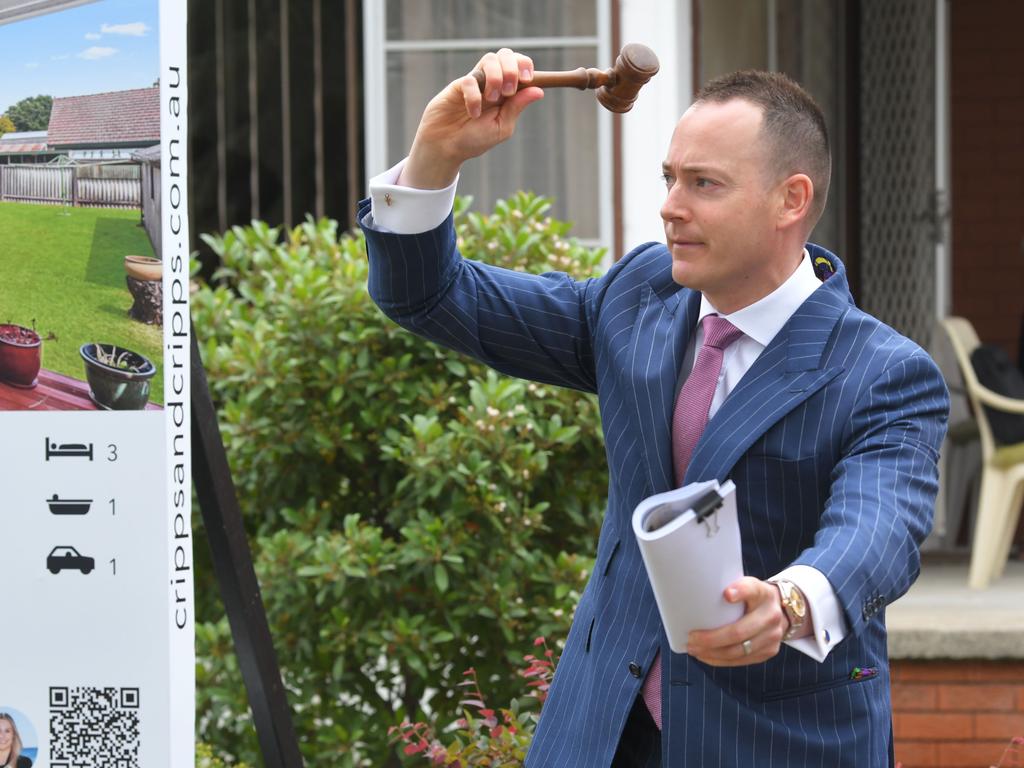
M 599 267 L 544 199 L 466 206 L 468 257 Z M 606 493 L 596 399 L 393 325 L 367 293 L 361 234 L 335 222 L 206 241 L 222 266 L 193 316 L 306 763 L 397 765 L 388 728 L 451 723 L 462 670 L 510 700 L 523 640 L 567 633 Z M 207 571 L 200 734 L 257 764 L 217 594 Z

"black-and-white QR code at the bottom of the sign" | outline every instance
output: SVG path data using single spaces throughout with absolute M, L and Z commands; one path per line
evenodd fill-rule
M 138 688 L 50 688 L 50 768 L 138 768 Z

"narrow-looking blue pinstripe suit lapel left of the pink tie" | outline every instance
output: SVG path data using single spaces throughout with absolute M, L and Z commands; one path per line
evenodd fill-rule
M 645 285 L 633 330 L 629 385 L 640 424 L 640 444 L 651 494 L 675 487 L 672 410 L 686 345 L 696 325 L 700 294 L 671 286 L 660 296 Z

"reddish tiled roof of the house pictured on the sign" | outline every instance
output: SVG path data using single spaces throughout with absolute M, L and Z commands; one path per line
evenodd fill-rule
M 54 148 L 159 141 L 160 88 L 54 98 L 48 139 Z

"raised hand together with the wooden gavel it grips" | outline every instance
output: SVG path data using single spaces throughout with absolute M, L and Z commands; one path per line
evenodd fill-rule
M 534 61 L 502 48 L 480 58 L 473 73 L 450 83 L 427 104 L 398 183 L 421 189 L 451 184 L 462 164 L 508 139 L 522 111 L 544 97 L 543 87 L 597 88 L 612 112 L 627 112 L 657 72 L 643 45 L 623 48 L 610 70 L 534 72 Z

